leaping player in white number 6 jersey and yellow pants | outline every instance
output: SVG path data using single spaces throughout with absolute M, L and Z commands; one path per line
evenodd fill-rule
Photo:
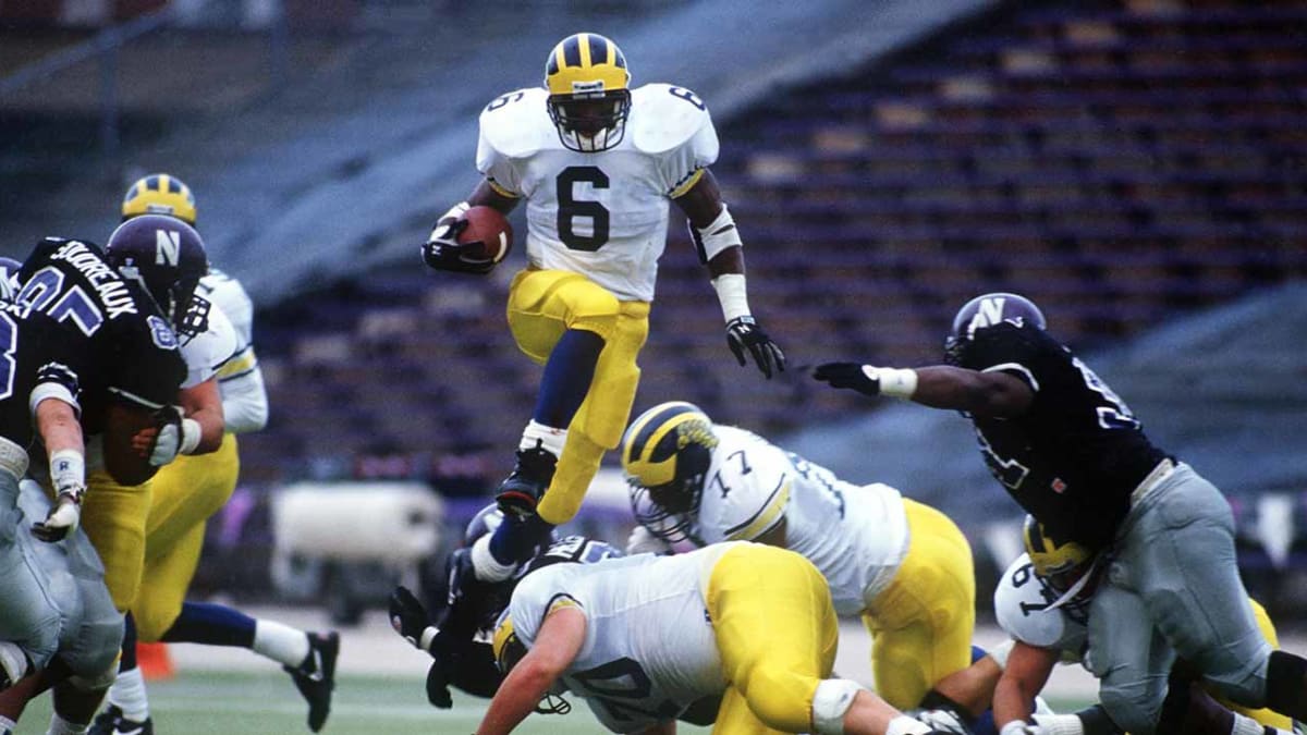
M 511 575 L 548 527 L 575 515 L 622 436 L 669 200 L 689 217 L 736 358 L 744 365 L 752 356 L 769 378 L 786 361 L 749 310 L 740 233 L 707 170 L 716 131 L 693 92 L 630 89 L 617 44 L 580 33 L 549 54 L 545 89 L 494 99 L 480 123 L 485 179 L 440 217 L 422 256 L 438 269 L 489 272 L 494 263 L 457 242 L 459 217 L 472 205 L 507 213 L 527 200 L 528 265 L 510 286 L 508 327 L 545 370 L 497 497 L 510 519 L 473 549 L 476 577 L 490 582 Z

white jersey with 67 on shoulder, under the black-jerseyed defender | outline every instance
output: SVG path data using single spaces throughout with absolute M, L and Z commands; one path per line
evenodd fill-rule
M 1064 662 L 1081 659 L 1089 638 L 1085 620 L 1065 608 L 1048 609 L 1057 595 L 1035 575 L 1030 555 L 1021 555 L 1002 573 L 993 591 L 993 613 L 1014 640 L 1061 653 Z

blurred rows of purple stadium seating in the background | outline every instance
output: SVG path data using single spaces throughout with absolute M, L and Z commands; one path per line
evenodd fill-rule
M 1021 290 L 1091 348 L 1303 277 L 1307 47 L 1280 33 L 1303 20 L 1304 3 L 1009 7 L 719 120 L 753 306 L 792 370 L 735 365 L 674 226 L 638 408 L 684 398 L 784 432 L 864 405 L 804 366 L 933 361 L 978 292 Z M 319 294 L 307 322 L 271 314 L 290 348 L 265 349 L 273 403 L 297 416 L 274 417 L 247 467 L 379 434 L 433 463 L 498 451 L 495 481 L 538 379 L 507 336 L 506 279 L 378 280 L 380 306 Z

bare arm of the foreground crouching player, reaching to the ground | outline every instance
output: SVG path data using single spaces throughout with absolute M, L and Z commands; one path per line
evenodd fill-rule
M 586 642 L 586 615 L 576 608 L 558 608 L 540 625 L 536 643 L 512 667 L 490 700 L 477 735 L 511 732 L 531 714 L 540 700 L 571 662 Z

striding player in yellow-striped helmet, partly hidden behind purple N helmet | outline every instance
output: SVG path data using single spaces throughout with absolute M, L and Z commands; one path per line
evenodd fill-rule
M 187 225 L 196 222 L 191 188 L 176 177 L 152 174 L 133 183 L 123 199 L 123 220 L 165 214 Z M 336 633 L 306 633 L 273 620 L 256 620 L 223 604 L 186 602 L 204 545 L 204 527 L 235 489 L 240 464 L 237 437 L 263 429 L 268 396 L 254 352 L 254 306 L 235 279 L 208 269 L 195 289 L 210 302 L 209 331 L 183 345 L 191 379 L 205 386 L 216 403 L 220 441 L 207 454 L 182 453 L 150 481 L 145 524 L 145 564 L 140 592 L 127 617 L 123 662 L 108 692 L 108 706 L 91 735 L 142 732 L 153 728 L 145 681 L 136 666 L 136 641 L 191 642 L 237 646 L 281 663 L 308 701 L 308 727 L 322 728 L 331 709 Z M 229 332 L 230 341 L 205 337 Z M 214 353 L 207 358 L 205 353 Z M 193 420 L 195 415 L 188 413 Z

